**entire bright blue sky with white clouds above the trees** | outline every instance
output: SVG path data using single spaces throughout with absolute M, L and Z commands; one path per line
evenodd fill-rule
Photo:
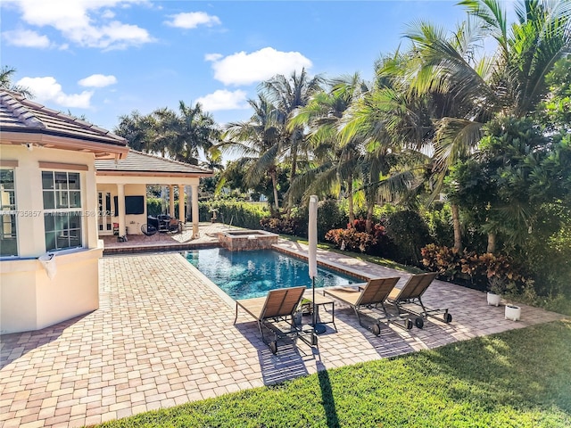
M 275 74 L 371 78 L 381 53 L 408 46 L 410 22 L 453 29 L 456 3 L 3 0 L 1 62 L 38 103 L 110 130 L 179 100 L 224 124 L 247 119 Z

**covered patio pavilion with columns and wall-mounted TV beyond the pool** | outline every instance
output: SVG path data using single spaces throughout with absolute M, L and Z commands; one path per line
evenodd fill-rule
M 198 236 L 198 185 L 200 177 L 211 177 L 210 169 L 134 150 L 121 160 L 95 160 L 95 169 L 99 235 L 140 235 L 147 223 L 146 186 L 167 185 L 170 216 L 175 215 L 178 193 L 178 219 L 192 218 L 193 237 Z M 187 187 L 192 189 L 190 215 L 186 213 Z

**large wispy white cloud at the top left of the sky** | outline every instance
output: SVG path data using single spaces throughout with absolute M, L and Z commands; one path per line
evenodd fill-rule
M 153 41 L 146 29 L 110 21 L 109 8 L 145 0 L 21 0 L 22 20 L 37 27 L 54 27 L 70 42 L 103 49 L 122 49 Z M 103 9 L 99 16 L 97 12 Z

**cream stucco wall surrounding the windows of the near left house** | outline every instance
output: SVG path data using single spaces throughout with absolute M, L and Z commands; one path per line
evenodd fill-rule
M 99 307 L 97 198 L 94 154 L 21 145 L 2 145 L 3 161 L 14 168 L 19 255 L 0 260 L 0 333 L 37 330 Z M 39 162 L 70 164 L 46 168 L 80 173 L 83 248 L 52 251 L 57 269 L 50 279 L 37 260 L 46 253 L 42 175 Z M 80 166 L 78 170 L 73 168 Z M 86 169 L 86 170 L 83 170 Z

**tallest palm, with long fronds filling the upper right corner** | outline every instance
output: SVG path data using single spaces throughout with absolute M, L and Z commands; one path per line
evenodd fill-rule
M 476 152 L 486 122 L 500 116 L 521 118 L 534 111 L 547 92 L 545 75 L 571 49 L 568 1 L 518 2 L 517 22 L 511 27 L 497 0 L 460 4 L 468 9 L 468 21 L 452 37 L 423 21 L 407 33 L 418 55 L 414 89 L 454 100 L 456 105 L 451 109 L 448 104 L 435 122 L 434 169 L 439 183 L 451 165 Z M 477 60 L 484 37 L 493 37 L 497 49 Z M 460 249 L 457 206 L 452 206 L 452 215 L 455 247 Z M 493 251 L 494 231 L 489 243 L 488 250 Z

